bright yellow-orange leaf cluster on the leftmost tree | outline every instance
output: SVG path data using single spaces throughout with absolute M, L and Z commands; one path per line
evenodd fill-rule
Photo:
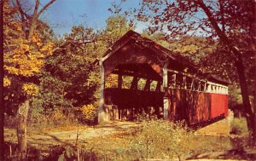
M 9 50 L 4 55 L 4 69 L 9 74 L 32 77 L 41 72 L 45 55 L 51 55 L 53 43 L 43 44 L 36 32 L 32 41 L 8 36 Z

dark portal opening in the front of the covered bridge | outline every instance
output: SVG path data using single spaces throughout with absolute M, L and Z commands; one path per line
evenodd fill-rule
M 104 106 L 110 120 L 163 118 L 161 76 L 148 64 L 121 64 L 105 80 Z

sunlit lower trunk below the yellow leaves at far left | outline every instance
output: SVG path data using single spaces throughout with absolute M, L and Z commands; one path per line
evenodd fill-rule
M 17 113 L 18 118 L 18 126 L 17 126 L 17 137 L 18 137 L 18 144 L 20 150 L 20 158 L 26 158 L 26 119 L 27 113 L 29 109 L 29 101 L 26 100 L 19 106 L 19 110 Z

